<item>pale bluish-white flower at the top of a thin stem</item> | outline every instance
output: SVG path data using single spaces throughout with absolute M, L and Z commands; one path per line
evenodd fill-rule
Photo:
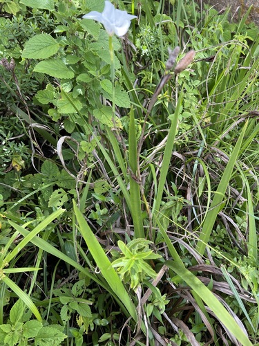
M 117 10 L 110 1 L 104 1 L 104 10 L 102 13 L 97 11 L 89 12 L 83 18 L 95 19 L 104 25 L 108 35 L 114 33 L 117 36 L 124 36 L 131 25 L 131 19 L 137 16 L 128 15 L 126 11 Z

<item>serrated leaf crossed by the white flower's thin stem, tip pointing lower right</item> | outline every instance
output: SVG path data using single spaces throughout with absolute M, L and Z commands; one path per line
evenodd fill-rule
M 113 101 L 113 84 L 111 80 L 102 80 L 100 82 L 102 89 L 106 92 L 102 92 L 104 94 L 105 98 L 108 98 L 108 100 Z M 118 107 L 124 107 L 124 108 L 130 108 L 131 107 L 131 100 L 128 96 L 128 93 L 122 89 L 121 86 L 116 85 L 115 86 L 115 104 Z

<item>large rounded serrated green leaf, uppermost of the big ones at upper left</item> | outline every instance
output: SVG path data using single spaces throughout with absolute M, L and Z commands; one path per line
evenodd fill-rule
M 33 36 L 26 42 L 22 57 L 28 59 L 46 59 L 55 55 L 59 50 L 59 44 L 53 37 L 47 34 Z

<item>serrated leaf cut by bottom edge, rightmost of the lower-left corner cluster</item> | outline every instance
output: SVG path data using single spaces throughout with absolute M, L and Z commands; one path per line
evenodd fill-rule
M 67 336 L 55 327 L 43 327 L 35 337 L 35 346 L 58 346 Z

